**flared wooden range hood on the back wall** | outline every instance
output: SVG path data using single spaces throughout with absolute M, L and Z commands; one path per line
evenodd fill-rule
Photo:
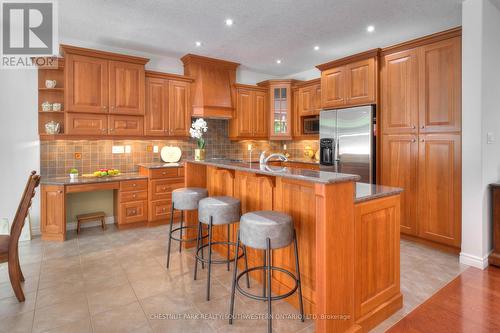
M 192 116 L 231 119 L 240 64 L 195 54 L 186 54 L 181 61 L 184 75 L 195 79 L 191 84 Z

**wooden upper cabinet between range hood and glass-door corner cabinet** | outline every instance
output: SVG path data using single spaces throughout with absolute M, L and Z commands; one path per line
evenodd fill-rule
M 269 107 L 267 89 L 236 84 L 236 110 L 229 124 L 231 139 L 267 139 Z

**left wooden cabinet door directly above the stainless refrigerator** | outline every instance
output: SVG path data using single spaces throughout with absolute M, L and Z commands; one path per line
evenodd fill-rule
M 321 105 L 324 109 L 346 104 L 345 67 L 321 72 Z

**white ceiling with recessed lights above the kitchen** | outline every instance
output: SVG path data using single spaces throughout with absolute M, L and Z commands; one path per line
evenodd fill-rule
M 64 0 L 59 20 L 61 40 L 175 58 L 196 53 L 285 76 L 458 26 L 461 0 Z

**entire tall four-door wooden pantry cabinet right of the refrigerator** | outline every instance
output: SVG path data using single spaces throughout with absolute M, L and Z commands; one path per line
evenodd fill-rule
M 404 188 L 401 232 L 460 248 L 460 30 L 384 50 L 381 64 L 380 183 Z

